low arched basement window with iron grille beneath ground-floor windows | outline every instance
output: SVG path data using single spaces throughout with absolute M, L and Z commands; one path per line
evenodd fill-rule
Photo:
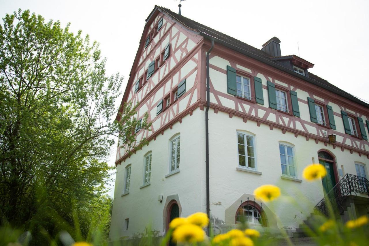
M 253 201 L 247 201 L 241 204 L 237 210 L 237 222 L 266 226 L 266 217 L 261 206 Z

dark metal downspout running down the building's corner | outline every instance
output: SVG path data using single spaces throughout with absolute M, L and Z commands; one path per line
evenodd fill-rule
M 205 139 L 206 139 L 206 214 L 210 219 L 210 184 L 209 184 L 209 107 L 210 107 L 210 77 L 209 54 L 214 47 L 214 38 L 211 39 L 211 47 L 206 54 L 206 110 L 205 110 Z M 210 222 L 207 226 L 207 234 L 210 233 Z

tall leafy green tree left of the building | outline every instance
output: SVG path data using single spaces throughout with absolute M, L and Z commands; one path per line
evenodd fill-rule
M 0 216 L 31 230 L 35 244 L 45 231 L 86 238 L 103 224 L 107 232 L 112 136 L 145 144 L 132 134 L 138 105 L 112 120 L 123 78 L 107 76 L 105 64 L 99 45 L 69 24 L 18 10 L 0 25 Z M 142 122 L 148 129 L 147 114 Z

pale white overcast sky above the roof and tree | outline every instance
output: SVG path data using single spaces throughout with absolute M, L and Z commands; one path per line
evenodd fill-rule
M 100 42 L 107 73 L 124 76 L 122 96 L 145 19 L 154 5 L 178 11 L 178 1 L 0 0 L 0 16 L 21 8 L 45 20 L 70 22 Z M 282 55 L 299 55 L 315 64 L 310 72 L 369 101 L 369 1 L 264 0 L 182 2 L 182 14 L 256 48 L 276 36 Z M 2 24 L 2 21 L 1 21 Z M 122 96 L 117 101 L 120 104 Z M 109 163 L 114 165 L 115 147 Z M 113 196 L 113 190 L 109 192 Z

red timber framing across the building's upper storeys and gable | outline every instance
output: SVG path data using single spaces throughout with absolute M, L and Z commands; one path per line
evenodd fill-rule
M 167 18 L 165 15 L 163 17 L 165 20 L 168 21 L 166 26 L 169 28 L 165 31 L 163 37 L 161 37 L 161 39 L 158 41 L 158 44 L 155 44 L 154 42 L 151 43 L 151 45 L 153 45 L 154 48 L 151 49 L 150 52 L 152 53 L 149 52 L 149 54 L 146 56 L 145 59 L 149 58 L 151 60 L 154 60 L 156 58 L 154 57 L 154 54 L 153 54 L 155 50 L 155 45 L 158 46 L 160 42 L 162 42 L 165 35 L 171 35 L 170 30 L 173 27 L 174 23 L 172 23 L 171 20 Z M 144 31 L 144 33 L 149 33 L 150 30 L 147 30 L 148 26 L 149 25 L 146 25 L 145 27 L 146 31 Z M 163 25 L 163 28 L 164 28 L 164 25 Z M 159 77 L 160 79 L 156 85 L 152 82 L 152 79 L 150 78 L 149 81 L 147 82 L 149 86 L 146 89 L 145 88 L 141 89 L 138 93 L 135 94 L 133 93 L 134 92 L 134 82 L 136 81 L 135 76 L 138 76 L 138 75 L 132 76 L 132 74 L 135 71 L 139 71 L 140 69 L 142 69 L 142 66 L 144 66 L 144 64 L 146 63 L 145 59 L 139 62 L 139 54 L 141 54 L 142 48 L 144 48 L 144 41 L 142 40 L 145 40 L 146 38 L 146 36 L 143 35 L 141 38 L 141 45 L 138 50 L 138 55 L 135 58 L 134 65 L 132 66 L 131 76 L 130 76 L 130 79 L 128 80 L 127 89 L 125 90 L 122 103 L 127 102 L 127 99 L 130 93 L 131 93 L 130 100 L 133 100 L 133 102 L 136 102 L 137 95 L 141 93 L 140 102 L 145 104 L 148 108 L 147 111 L 150 112 L 150 110 L 156 107 L 158 103 L 158 102 L 153 102 L 155 93 L 160 88 L 162 88 L 162 86 L 164 86 L 166 82 L 168 82 L 169 80 L 172 80 L 173 76 L 177 72 L 180 71 L 182 66 L 186 64 L 187 61 L 192 60 L 197 63 L 197 66 L 190 72 L 190 74 L 196 71 L 197 72 L 196 80 L 195 80 L 193 88 L 189 90 L 187 90 L 186 88 L 186 93 L 182 95 L 180 98 L 181 100 L 183 100 L 184 98 L 186 98 L 187 95 L 191 94 L 190 99 L 187 102 L 186 109 L 184 109 L 182 112 L 178 111 L 178 107 L 179 107 L 178 101 L 179 100 L 176 100 L 175 102 L 172 102 L 171 100 L 171 104 L 169 108 L 165 109 L 165 111 L 163 110 L 163 112 L 159 114 L 158 116 L 156 116 L 154 119 L 151 119 L 151 117 L 149 117 L 148 119 L 149 121 L 155 120 L 157 117 L 161 117 L 160 127 L 155 130 L 152 128 L 150 135 L 148 135 L 149 134 L 148 132 L 142 133 L 143 130 L 139 131 L 138 140 L 142 139 L 143 137 L 146 137 L 148 141 L 151 141 L 152 139 L 155 140 L 158 134 L 163 134 L 164 130 L 171 128 L 171 126 L 173 126 L 173 124 L 176 123 L 177 121 L 181 123 L 182 118 L 184 116 L 186 116 L 187 114 L 192 115 L 193 110 L 195 110 L 197 107 L 200 107 L 200 110 L 203 110 L 204 105 L 206 105 L 205 54 L 206 54 L 206 51 L 210 48 L 210 41 L 201 40 L 202 37 L 194 34 L 192 31 L 186 31 L 183 28 L 181 29 L 181 26 L 179 26 L 177 29 L 180 29 L 180 32 L 186 34 L 186 36 L 189 39 L 192 38 L 192 40 L 196 41 L 196 46 L 191 51 L 184 52 L 183 57 L 181 55 L 180 61 L 175 61 L 176 64 L 174 66 L 171 66 L 172 69 L 163 78 Z M 160 35 L 160 34 L 156 34 L 156 35 Z M 175 38 L 175 36 L 173 37 L 170 36 L 170 40 L 173 40 L 173 38 Z M 179 49 L 182 50 L 185 48 L 176 45 L 175 50 L 170 51 L 170 57 L 172 56 L 174 57 L 173 54 L 175 54 L 175 52 Z M 197 59 L 194 57 L 195 55 L 197 55 Z M 283 89 L 287 92 L 290 90 L 296 91 L 297 89 L 300 89 L 300 90 L 307 92 L 308 96 L 310 98 L 314 98 L 314 100 L 316 100 L 317 103 L 320 105 L 328 105 L 328 103 L 330 102 L 335 103 L 338 105 L 340 110 L 344 110 L 345 112 L 347 112 L 347 109 L 349 109 L 349 112 L 356 112 L 354 113 L 353 116 L 355 117 L 366 116 L 369 119 L 369 109 L 368 108 L 363 107 L 348 99 L 345 99 L 339 95 L 332 97 L 332 92 L 329 92 L 328 90 L 324 90 L 316 85 L 307 83 L 306 81 L 303 81 L 297 77 L 287 74 L 286 72 L 277 70 L 267 64 L 264 64 L 262 62 L 256 61 L 255 59 L 249 58 L 243 54 L 235 52 L 227 47 L 224 47 L 223 45 L 215 43 L 214 49 L 210 54 L 210 59 L 214 56 L 227 59 L 230 62 L 231 66 L 237 69 L 237 72 L 240 72 L 242 75 L 248 75 L 251 78 L 250 79 L 251 84 L 253 84 L 254 76 L 258 76 L 258 74 L 262 74 L 263 76 L 265 76 L 266 79 L 275 83 L 276 88 L 278 89 Z M 167 61 L 166 63 L 168 62 L 169 61 Z M 246 67 L 248 69 L 251 69 L 251 73 L 249 71 L 245 71 L 241 68 L 238 68 L 236 64 Z M 210 65 L 210 68 L 226 74 L 226 70 L 225 70 L 226 68 L 219 68 L 212 64 Z M 160 72 L 160 69 L 158 69 L 158 72 Z M 182 78 L 184 77 L 182 76 Z M 276 82 L 276 80 L 283 81 L 283 83 L 285 83 L 286 85 L 281 85 L 280 83 Z M 226 81 L 224 81 L 224 83 L 226 83 Z M 171 82 L 170 92 L 172 92 L 175 89 L 175 86 L 176 85 L 173 85 Z M 213 94 L 216 100 L 216 103 L 214 102 L 210 103 L 210 107 L 214 109 L 215 113 L 218 113 L 218 111 L 221 111 L 221 112 L 227 113 L 230 117 L 234 117 L 234 116 L 241 117 L 245 123 L 247 122 L 247 120 L 252 120 L 252 121 L 257 122 L 258 126 L 260 126 L 261 124 L 266 124 L 269 126 L 270 130 L 280 129 L 282 130 L 283 134 L 285 134 L 288 131 L 288 132 L 294 133 L 295 137 L 298 137 L 299 135 L 306 137 L 307 141 L 309 139 L 315 140 L 315 143 L 319 143 L 319 141 L 321 141 L 325 144 L 325 146 L 328 145 L 328 139 L 324 137 L 323 131 L 327 131 L 328 135 L 335 134 L 337 136 L 342 137 L 342 143 L 336 142 L 335 144 L 333 144 L 333 148 L 341 147 L 341 149 L 350 150 L 351 154 L 353 153 L 353 151 L 355 151 L 359 153 L 360 156 L 361 154 L 365 154 L 369 158 L 368 141 L 358 139 L 351 135 L 345 134 L 344 132 L 339 132 L 337 130 L 330 129 L 326 112 L 325 112 L 325 116 L 326 116 L 325 119 L 326 119 L 328 127 L 310 122 L 308 120 L 303 120 L 301 119 L 301 117 L 296 117 L 296 116 L 293 116 L 292 114 L 282 112 L 280 110 L 271 109 L 270 107 L 268 107 L 267 103 L 265 103 L 265 105 L 259 105 L 255 102 L 254 94 L 252 95 L 253 97 L 252 100 L 245 100 L 243 98 L 239 98 L 237 96 L 233 96 L 225 92 L 217 91 L 213 87 L 211 78 L 210 78 L 210 88 L 211 88 L 210 93 Z M 267 89 L 267 87 L 263 85 L 263 89 Z M 194 90 L 197 90 L 197 101 L 191 104 L 192 97 L 194 95 Z M 251 91 L 253 91 L 253 87 L 251 87 Z M 289 93 L 287 93 L 287 95 L 288 94 Z M 168 93 L 166 93 L 165 95 L 163 93 L 163 96 L 160 99 L 165 98 L 167 95 Z M 220 97 L 226 98 L 228 100 L 232 100 L 234 102 L 234 109 L 222 105 L 221 100 L 219 99 Z M 323 101 L 320 99 L 317 99 L 316 97 L 322 98 Z M 301 106 L 308 107 L 307 99 L 299 98 L 298 101 L 300 103 L 300 107 Z M 291 100 L 290 100 L 289 95 L 288 95 L 288 105 L 289 105 L 289 110 L 291 110 L 292 107 L 291 107 Z M 262 112 L 262 114 L 259 115 L 259 112 Z M 276 122 L 268 120 L 268 117 L 270 115 L 275 115 L 273 117 L 275 117 Z M 334 115 L 341 119 L 340 113 L 334 112 Z M 117 119 L 119 119 L 118 116 L 117 116 Z M 298 129 L 297 124 L 301 125 L 303 130 Z M 337 118 L 336 118 L 336 124 L 341 124 L 341 122 Z M 313 133 L 311 132 L 312 128 L 315 128 Z M 308 129 L 310 129 L 310 132 L 308 131 Z M 346 143 L 346 140 L 348 140 L 351 143 L 351 146 L 348 144 L 344 144 Z M 127 157 L 129 157 L 128 153 L 125 153 L 123 156 L 121 156 L 119 148 L 120 147 L 118 147 L 118 151 L 117 151 L 118 152 L 117 160 L 115 161 L 116 165 L 120 164 L 121 161 L 124 161 Z

